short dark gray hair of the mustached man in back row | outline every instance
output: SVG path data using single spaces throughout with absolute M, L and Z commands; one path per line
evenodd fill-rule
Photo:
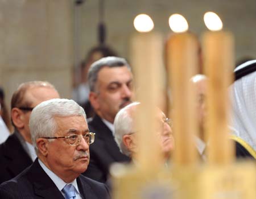
M 96 83 L 98 78 L 98 72 L 104 67 L 114 68 L 114 67 L 127 67 L 131 70 L 130 65 L 127 61 L 121 57 L 103 57 L 98 61 L 95 61 L 89 68 L 88 71 L 88 82 L 90 91 L 96 91 Z

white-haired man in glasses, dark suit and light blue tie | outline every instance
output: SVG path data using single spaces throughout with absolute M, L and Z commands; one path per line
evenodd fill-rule
M 109 198 L 104 184 L 80 175 L 89 164 L 89 132 L 84 109 L 69 99 L 36 106 L 30 131 L 38 159 L 0 185 L 0 198 Z

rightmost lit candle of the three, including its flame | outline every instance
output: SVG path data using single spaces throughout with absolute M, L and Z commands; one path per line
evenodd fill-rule
M 207 126 L 209 136 L 209 163 L 228 163 L 232 160 L 232 147 L 228 140 L 228 86 L 232 81 L 233 36 L 221 31 L 221 19 L 215 13 L 204 15 L 209 28 L 203 35 L 205 74 L 208 81 Z

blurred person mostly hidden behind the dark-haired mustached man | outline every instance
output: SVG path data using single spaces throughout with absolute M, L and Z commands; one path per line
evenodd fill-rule
M 77 103 L 84 107 L 88 118 L 92 117 L 94 114 L 94 111 L 89 101 L 90 89 L 87 80 L 88 69 L 90 65 L 92 65 L 92 63 L 94 63 L 95 61 L 101 59 L 102 57 L 108 56 L 117 56 L 117 53 L 115 53 L 112 48 L 106 45 L 99 45 L 90 49 L 85 57 L 85 60 L 81 63 L 80 72 L 78 73 L 81 76 L 81 80 L 79 84 L 75 86 L 75 89 L 73 89 L 72 96 Z M 76 78 L 74 77 L 74 82 L 75 81 Z

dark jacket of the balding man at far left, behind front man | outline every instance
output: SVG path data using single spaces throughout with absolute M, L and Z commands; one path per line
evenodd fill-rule
M 32 164 L 30 156 L 17 137 L 18 133 L 14 132 L 0 145 L 0 184 L 12 179 Z

